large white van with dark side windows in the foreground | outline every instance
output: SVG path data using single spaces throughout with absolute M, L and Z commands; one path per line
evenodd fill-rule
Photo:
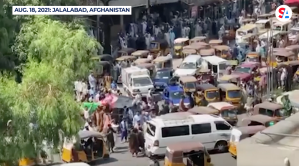
M 165 155 L 166 147 L 181 142 L 201 142 L 208 150 L 227 150 L 232 126 L 223 118 L 177 112 L 158 116 L 145 129 L 145 150 L 148 156 Z

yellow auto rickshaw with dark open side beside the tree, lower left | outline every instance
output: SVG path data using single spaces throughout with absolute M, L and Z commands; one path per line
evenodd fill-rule
M 64 162 L 91 162 L 101 158 L 109 158 L 105 136 L 96 131 L 80 131 L 78 133 L 81 140 L 74 137 L 72 140 L 64 139 L 62 149 L 62 161 Z M 93 146 L 87 145 L 86 139 L 92 139 Z M 84 142 L 82 144 L 82 141 Z M 88 147 L 87 147 L 88 146 Z

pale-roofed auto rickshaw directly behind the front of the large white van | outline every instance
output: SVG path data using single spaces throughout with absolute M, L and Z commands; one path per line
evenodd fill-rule
M 218 110 L 220 112 L 220 116 L 224 118 L 231 125 L 235 125 L 238 121 L 237 118 L 238 110 L 236 106 L 228 102 L 214 102 L 208 104 L 207 107 Z

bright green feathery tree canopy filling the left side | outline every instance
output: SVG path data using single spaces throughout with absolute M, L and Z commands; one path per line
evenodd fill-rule
M 11 25 L 0 23 L 0 61 L 16 55 L 21 63 L 12 68 L 22 73 L 22 82 L 3 73 L 0 79 L 0 134 L 5 138 L 0 140 L 0 163 L 36 157 L 43 142 L 57 147 L 58 130 L 66 136 L 79 131 L 81 108 L 74 100 L 73 82 L 86 76 L 90 58 L 102 49 L 78 22 L 32 16 L 18 31 L 16 18 L 1 12 L 5 17 L 0 22 Z

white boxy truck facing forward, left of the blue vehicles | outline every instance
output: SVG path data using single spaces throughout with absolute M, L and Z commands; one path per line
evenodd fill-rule
M 150 72 L 147 69 L 132 66 L 121 71 L 124 90 L 131 96 L 141 93 L 142 96 L 154 89 Z

